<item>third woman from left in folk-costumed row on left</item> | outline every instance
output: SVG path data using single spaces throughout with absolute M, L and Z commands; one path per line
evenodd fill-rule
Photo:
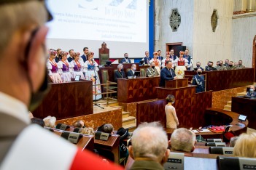
M 75 52 L 74 53 L 74 60 L 70 62 L 72 72 L 73 72 L 73 78 L 75 78 L 77 75 L 80 76 L 81 79 L 85 79 L 84 73 L 82 73 L 82 70 L 84 69 L 85 64 L 79 60 L 80 58 L 80 53 Z

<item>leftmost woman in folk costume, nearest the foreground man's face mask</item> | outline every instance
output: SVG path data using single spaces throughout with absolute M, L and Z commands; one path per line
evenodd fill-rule
M 54 49 L 50 49 L 50 56 L 47 60 L 47 70 L 50 78 L 52 79 L 53 83 L 62 83 L 61 75 L 58 73 L 58 65 L 55 62 L 55 57 L 57 52 Z

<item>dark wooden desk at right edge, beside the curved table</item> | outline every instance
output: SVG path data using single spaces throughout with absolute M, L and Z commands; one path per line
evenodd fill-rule
M 238 114 L 247 116 L 249 127 L 256 129 L 256 100 L 244 97 L 232 97 L 231 110 Z

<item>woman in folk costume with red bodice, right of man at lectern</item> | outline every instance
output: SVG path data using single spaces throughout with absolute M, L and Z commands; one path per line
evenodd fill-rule
M 177 78 L 184 78 L 185 75 L 185 70 L 187 70 L 187 59 L 183 58 L 184 52 L 180 51 L 179 52 L 179 58 L 174 60 L 174 65 L 175 65 L 175 74 Z

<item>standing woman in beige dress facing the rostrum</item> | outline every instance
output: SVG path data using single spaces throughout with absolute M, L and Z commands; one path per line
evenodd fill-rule
M 177 129 L 177 126 L 179 126 L 179 120 L 176 115 L 176 110 L 173 106 L 174 100 L 174 95 L 168 94 L 166 97 L 166 128 L 171 129 Z

